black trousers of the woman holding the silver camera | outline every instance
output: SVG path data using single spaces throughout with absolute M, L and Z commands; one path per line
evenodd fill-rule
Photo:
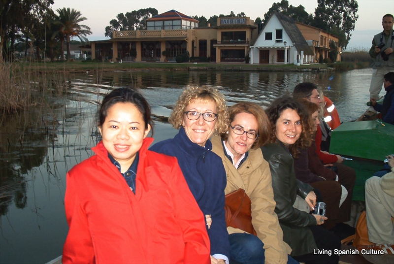
M 317 248 L 325 251 L 319 252 L 315 250 L 309 254 L 293 256 L 293 259 L 305 264 L 338 264 L 339 255 L 335 254 L 334 250 L 341 249 L 339 237 L 319 226 L 309 228 L 313 233 Z

